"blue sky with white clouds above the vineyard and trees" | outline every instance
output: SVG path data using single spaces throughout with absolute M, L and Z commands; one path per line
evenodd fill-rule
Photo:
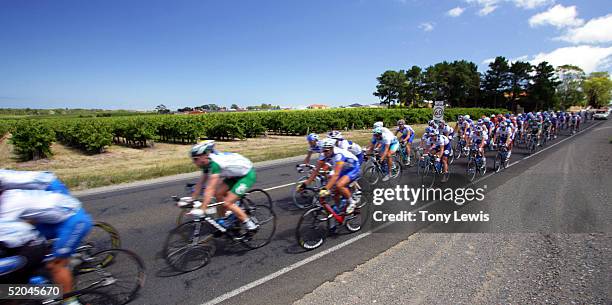
M 609 1 L 0 0 L 0 107 L 373 103 L 387 69 L 610 71 Z

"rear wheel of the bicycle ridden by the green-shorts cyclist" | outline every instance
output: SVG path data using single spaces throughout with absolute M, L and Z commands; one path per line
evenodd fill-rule
M 249 202 L 247 198 L 243 198 L 242 200 L 247 201 L 244 205 L 244 210 L 247 215 L 251 217 L 251 220 L 259 225 L 259 228 L 255 233 L 247 233 L 248 235 L 240 241 L 249 249 L 261 248 L 269 244 L 272 240 L 272 236 L 274 236 L 274 232 L 276 231 L 276 214 L 274 214 L 274 210 L 266 204 L 253 204 Z

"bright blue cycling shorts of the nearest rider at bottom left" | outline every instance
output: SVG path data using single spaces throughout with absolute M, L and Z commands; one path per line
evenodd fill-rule
M 85 209 L 80 209 L 60 223 L 36 224 L 36 229 L 47 239 L 56 239 L 52 247 L 54 257 L 67 258 L 87 236 L 92 224 L 91 216 L 85 212 Z

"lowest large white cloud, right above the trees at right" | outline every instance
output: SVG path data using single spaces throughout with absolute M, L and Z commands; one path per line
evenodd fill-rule
M 612 47 L 575 46 L 556 49 L 550 53 L 539 53 L 530 61 L 539 64 L 547 61 L 557 67 L 561 65 L 575 65 L 586 73 L 601 71 L 610 67 L 612 63 Z

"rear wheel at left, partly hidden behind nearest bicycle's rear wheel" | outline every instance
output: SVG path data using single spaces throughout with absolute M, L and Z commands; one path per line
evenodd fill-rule
M 82 244 L 91 247 L 87 250 L 87 253 L 92 254 L 106 249 L 121 248 L 121 238 L 119 232 L 113 226 L 98 221 L 91 227 L 91 231 L 89 231 Z M 112 260 L 113 257 L 109 254 L 109 256 L 104 259 L 103 266 L 109 264 Z M 76 268 L 78 272 L 90 272 L 93 270 L 85 265 Z

